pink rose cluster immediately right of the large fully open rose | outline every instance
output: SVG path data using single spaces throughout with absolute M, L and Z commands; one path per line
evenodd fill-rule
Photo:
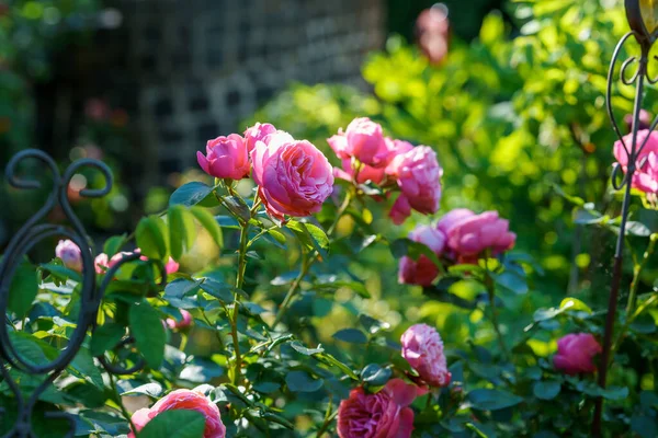
M 384 137 L 382 126 L 367 117 L 355 118 L 327 142 L 342 163 L 337 177 L 399 191 L 389 212 L 394 223 L 402 223 L 411 209 L 423 215 L 439 210 L 443 170 L 431 148 Z

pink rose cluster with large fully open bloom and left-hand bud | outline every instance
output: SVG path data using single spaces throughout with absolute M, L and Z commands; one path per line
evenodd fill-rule
M 333 191 L 333 170 L 322 152 L 270 124 L 209 140 L 197 160 L 216 178 L 236 181 L 251 173 L 265 210 L 281 221 L 318 212 Z

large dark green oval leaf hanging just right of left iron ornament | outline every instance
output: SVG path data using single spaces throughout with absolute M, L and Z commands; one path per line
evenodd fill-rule
M 131 307 L 128 321 L 135 345 L 148 366 L 152 369 L 160 368 L 167 341 L 160 313 L 148 301 L 143 300 Z

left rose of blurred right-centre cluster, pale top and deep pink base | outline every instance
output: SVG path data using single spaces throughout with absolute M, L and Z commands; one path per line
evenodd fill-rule
M 420 226 L 409 233 L 409 239 L 427 245 L 436 255 L 441 255 L 445 246 L 445 235 L 434 227 Z M 404 256 L 400 260 L 398 281 L 400 284 L 430 286 L 439 275 L 434 263 L 421 255 L 418 261 Z

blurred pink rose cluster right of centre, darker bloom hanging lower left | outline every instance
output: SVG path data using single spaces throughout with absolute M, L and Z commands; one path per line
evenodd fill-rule
M 457 208 L 443 216 L 435 227 L 419 226 L 409 239 L 427 245 L 446 263 L 476 263 L 485 255 L 498 255 L 511 250 L 517 234 L 510 232 L 509 221 L 496 211 L 480 215 Z M 434 263 L 424 255 L 418 261 L 405 256 L 399 262 L 400 283 L 430 286 L 439 275 Z

